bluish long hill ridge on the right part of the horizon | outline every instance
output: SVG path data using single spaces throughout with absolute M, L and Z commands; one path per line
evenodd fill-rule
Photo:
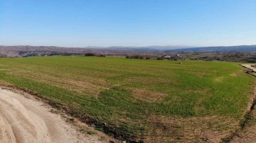
M 165 52 L 256 52 L 256 45 L 218 46 L 218 47 L 191 47 Z

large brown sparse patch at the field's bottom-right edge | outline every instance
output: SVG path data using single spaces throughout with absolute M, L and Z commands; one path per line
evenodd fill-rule
M 239 120 L 230 117 L 174 118 L 152 116 L 145 142 L 221 142 L 239 128 Z

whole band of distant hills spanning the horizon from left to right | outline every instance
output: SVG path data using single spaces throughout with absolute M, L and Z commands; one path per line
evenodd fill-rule
M 31 57 L 44 55 L 83 55 L 93 52 L 97 55 L 168 55 L 170 52 L 255 52 L 256 45 L 219 46 L 219 47 L 190 47 L 183 45 L 144 46 L 144 47 L 55 47 L 55 46 L 4 46 L 0 45 L 0 57 Z

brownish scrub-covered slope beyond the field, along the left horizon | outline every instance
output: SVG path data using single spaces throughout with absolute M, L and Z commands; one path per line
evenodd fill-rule
M 155 50 L 139 50 L 140 55 L 165 55 L 165 52 Z M 124 55 L 137 55 L 138 50 L 127 49 L 112 49 L 104 47 L 53 47 L 53 46 L 1 46 L 0 57 L 36 57 L 36 56 L 54 56 L 54 55 L 84 55 L 85 53 L 92 52 L 97 55 L 111 55 L 111 56 L 124 56 Z

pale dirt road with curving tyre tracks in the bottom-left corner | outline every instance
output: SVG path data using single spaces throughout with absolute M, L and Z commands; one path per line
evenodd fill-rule
M 0 88 L 0 142 L 104 142 L 85 135 L 34 98 Z

